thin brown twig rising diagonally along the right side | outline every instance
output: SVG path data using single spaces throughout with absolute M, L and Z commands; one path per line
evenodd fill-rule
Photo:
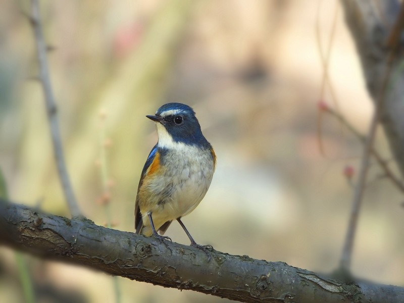
M 352 248 L 354 245 L 354 238 L 355 238 L 355 233 L 356 233 L 356 229 L 357 229 L 359 210 L 361 208 L 362 196 L 363 196 L 363 192 L 364 192 L 364 188 L 365 188 L 366 175 L 367 175 L 368 168 L 369 168 L 369 158 L 370 158 L 370 154 L 372 153 L 373 142 L 374 142 L 375 134 L 376 134 L 376 128 L 377 128 L 377 125 L 379 122 L 380 112 L 384 105 L 387 86 L 390 81 L 392 65 L 393 65 L 394 56 L 396 53 L 396 48 L 398 45 L 397 40 L 398 40 L 398 37 L 401 36 L 401 32 L 403 29 L 403 26 L 402 26 L 404 24 L 403 20 L 404 20 L 404 4 L 401 4 L 400 13 L 398 14 L 398 17 L 396 19 L 395 25 L 393 26 L 392 32 L 389 35 L 388 45 L 390 46 L 390 51 L 388 53 L 388 56 L 386 59 L 386 64 L 385 64 L 385 66 L 386 66 L 385 77 L 383 78 L 383 82 L 382 82 L 382 85 L 379 90 L 379 95 L 376 99 L 376 106 L 375 106 L 372 121 L 370 124 L 369 134 L 365 140 L 361 168 L 360 168 L 360 172 L 359 172 L 359 176 L 358 176 L 358 183 L 355 188 L 355 194 L 354 194 L 354 200 L 352 202 L 352 210 L 351 210 L 351 214 L 350 214 L 350 218 L 349 218 L 348 230 L 347 230 L 346 237 L 345 237 L 344 247 L 342 249 L 340 267 L 346 271 L 349 271 L 349 267 L 350 267 L 350 263 L 351 263 L 351 259 L 352 259 Z M 397 31 L 399 31 L 399 34 L 396 34 Z

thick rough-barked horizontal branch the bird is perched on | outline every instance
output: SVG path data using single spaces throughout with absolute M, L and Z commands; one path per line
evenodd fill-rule
M 344 283 L 282 262 L 254 260 L 67 219 L 0 201 L 0 244 L 129 279 L 244 302 L 402 302 L 404 288 Z

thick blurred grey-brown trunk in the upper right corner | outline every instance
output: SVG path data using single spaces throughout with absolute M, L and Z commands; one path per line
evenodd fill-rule
M 401 42 L 397 39 L 401 37 L 404 22 L 400 3 L 397 0 L 341 0 L 341 4 L 357 45 L 368 91 L 375 103 L 378 102 L 390 60 L 394 60 L 389 87 L 380 109 L 380 121 L 404 176 L 404 73 L 400 64 L 404 54 L 395 49 Z M 394 59 L 387 60 L 391 52 L 394 52 Z

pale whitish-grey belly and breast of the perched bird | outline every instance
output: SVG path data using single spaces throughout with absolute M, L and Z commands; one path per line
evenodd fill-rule
M 204 198 L 212 181 L 214 163 L 209 154 L 187 153 L 181 157 L 172 156 L 171 159 L 166 156 L 162 174 L 156 174 L 147 180 L 147 186 L 140 193 L 142 233 L 146 236 L 151 235 L 148 213 L 152 214 L 158 230 L 165 222 L 191 213 Z

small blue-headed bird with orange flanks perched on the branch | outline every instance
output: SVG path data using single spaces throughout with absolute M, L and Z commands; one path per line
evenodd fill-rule
M 170 239 L 163 234 L 177 220 L 191 245 L 205 250 L 206 246 L 195 243 L 181 218 L 208 191 L 216 166 L 215 151 L 202 134 L 194 111 L 185 104 L 168 103 L 155 116 L 146 117 L 156 122 L 159 139 L 147 157 L 137 189 L 136 233 Z

